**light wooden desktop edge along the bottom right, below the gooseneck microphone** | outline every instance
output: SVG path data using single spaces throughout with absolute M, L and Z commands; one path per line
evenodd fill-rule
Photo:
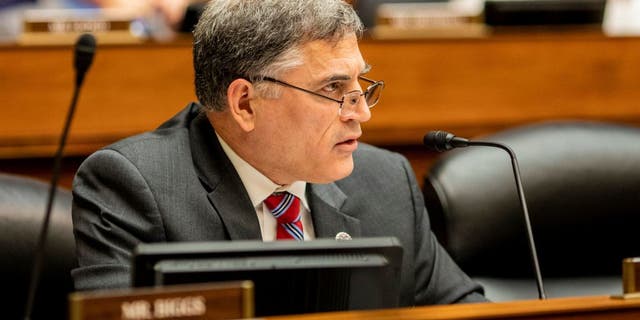
M 514 301 L 416 308 L 332 312 L 267 317 L 266 320 L 568 320 L 640 319 L 640 300 L 613 300 L 609 297 L 560 298 L 545 301 Z

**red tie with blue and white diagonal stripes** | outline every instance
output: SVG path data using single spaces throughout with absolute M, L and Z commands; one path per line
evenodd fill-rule
M 300 199 L 288 192 L 276 192 L 264 200 L 278 220 L 277 240 L 304 240 L 300 220 Z

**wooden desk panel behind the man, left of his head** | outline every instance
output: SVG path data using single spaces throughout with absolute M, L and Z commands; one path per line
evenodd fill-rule
M 71 48 L 9 47 L 0 57 L 0 158 L 52 155 L 71 101 Z M 195 99 L 192 83 L 186 45 L 99 47 L 67 154 L 85 155 L 157 127 Z

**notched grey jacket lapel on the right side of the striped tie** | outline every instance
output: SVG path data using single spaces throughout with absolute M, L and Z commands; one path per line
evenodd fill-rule
M 307 197 L 316 238 L 335 238 L 339 232 L 360 237 L 360 220 L 341 211 L 347 196 L 335 184 L 309 184 Z

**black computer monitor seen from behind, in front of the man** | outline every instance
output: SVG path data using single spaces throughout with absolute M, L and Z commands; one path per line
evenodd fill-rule
M 256 316 L 397 307 L 396 238 L 140 244 L 134 287 L 251 280 Z

